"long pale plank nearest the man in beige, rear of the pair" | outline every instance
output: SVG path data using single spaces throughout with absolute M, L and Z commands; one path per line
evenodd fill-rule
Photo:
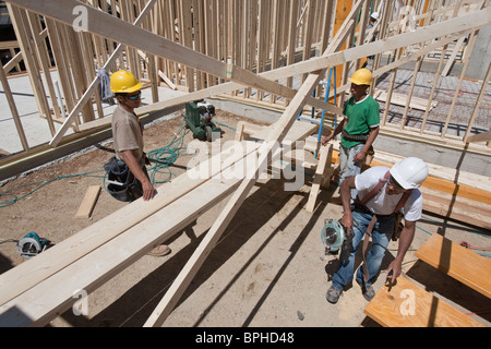
M 255 149 L 256 147 L 247 148 L 248 152 L 254 152 Z M 231 157 L 219 154 L 217 155 L 218 160 L 211 158 L 208 161 L 202 163 L 188 171 L 194 171 L 196 173 L 194 180 L 190 180 L 188 176 L 180 176 L 172 180 L 171 185 L 163 184 L 157 188 L 157 195 L 152 201 L 144 202 L 143 200 L 137 200 L 131 205 L 120 208 L 117 214 L 109 215 L 83 229 L 77 234 L 57 243 L 53 248 L 36 256 L 36 258 L 25 261 L 15 268 L 1 274 L 0 304 L 25 292 L 36 284 L 56 274 L 67 265 L 70 265 L 73 261 L 83 257 L 140 221 L 147 219 L 156 212 L 167 207 L 182 195 L 202 185 L 211 178 L 217 176 L 221 170 L 225 170 L 227 166 L 239 161 L 248 154 L 244 152 L 236 152 Z M 221 163 L 225 159 L 227 161 Z M 221 166 L 211 167 L 209 164 L 215 164 L 214 161 L 218 161 Z M 110 227 L 110 229 L 107 229 L 107 227 Z M 101 231 L 105 233 L 101 233 Z

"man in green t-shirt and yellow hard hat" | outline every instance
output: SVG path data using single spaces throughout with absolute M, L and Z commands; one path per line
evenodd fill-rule
M 372 73 L 362 68 L 357 70 L 349 81 L 351 82 L 351 97 L 343 110 L 346 117 L 334 132 L 321 140 L 322 144 L 326 145 L 342 133 L 339 185 L 346 178 L 360 173 L 367 154 L 373 149 L 372 144 L 380 128 L 379 103 L 368 94 L 372 84 Z M 352 197 L 356 197 L 356 191 L 352 192 Z

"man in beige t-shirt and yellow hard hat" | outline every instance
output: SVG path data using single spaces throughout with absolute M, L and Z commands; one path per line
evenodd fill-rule
M 141 105 L 142 84 L 131 72 L 120 70 L 111 75 L 110 88 L 118 100 L 111 121 L 116 159 L 124 161 L 129 174 L 134 176 L 134 180 L 125 189 L 124 197 L 129 197 L 130 202 L 142 196 L 144 201 L 149 201 L 156 190 L 145 166 L 148 159 L 144 153 L 143 127 L 134 112 Z M 169 253 L 169 246 L 161 244 L 149 254 L 160 256 Z

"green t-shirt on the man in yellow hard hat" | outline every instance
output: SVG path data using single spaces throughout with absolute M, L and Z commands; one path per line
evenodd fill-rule
M 380 124 L 380 106 L 370 95 L 359 103 L 355 100 L 355 97 L 349 98 L 343 113 L 348 118 L 345 131 L 349 134 L 367 134 Z M 360 141 L 348 141 L 342 137 L 342 145 L 347 148 L 360 143 Z

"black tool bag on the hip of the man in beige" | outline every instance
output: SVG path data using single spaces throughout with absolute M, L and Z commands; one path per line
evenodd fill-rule
M 104 165 L 104 169 L 107 174 L 106 190 L 112 197 L 122 202 L 132 202 L 143 196 L 142 183 L 131 173 L 124 161 L 113 156 Z

